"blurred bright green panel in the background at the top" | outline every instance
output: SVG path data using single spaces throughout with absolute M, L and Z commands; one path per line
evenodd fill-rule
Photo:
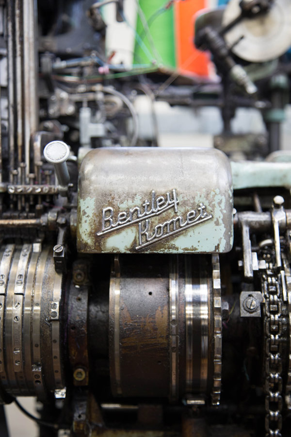
M 158 65 L 176 67 L 173 7 L 164 10 L 165 0 L 139 0 L 139 4 L 149 24 L 152 38 L 148 36 L 148 31 L 144 28 L 138 14 L 134 64 L 150 63 L 155 59 Z M 149 53 L 152 56 L 151 59 L 149 59 Z

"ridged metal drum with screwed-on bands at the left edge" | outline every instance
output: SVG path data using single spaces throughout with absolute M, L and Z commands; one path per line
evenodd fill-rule
M 60 320 L 50 312 L 50 302 L 60 303 L 62 275 L 51 254 L 32 244 L 0 249 L 0 377 L 14 396 L 43 400 L 64 386 Z

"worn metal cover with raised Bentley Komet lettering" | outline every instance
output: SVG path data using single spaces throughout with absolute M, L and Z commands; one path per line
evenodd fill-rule
M 79 252 L 229 252 L 232 185 L 214 149 L 96 149 L 79 177 Z

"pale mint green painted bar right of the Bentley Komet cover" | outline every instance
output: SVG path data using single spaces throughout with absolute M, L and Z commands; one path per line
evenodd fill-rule
M 291 188 L 291 163 L 231 162 L 233 189 L 284 186 Z

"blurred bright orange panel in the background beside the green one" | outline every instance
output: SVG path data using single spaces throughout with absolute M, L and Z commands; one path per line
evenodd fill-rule
M 194 47 L 194 14 L 207 6 L 207 0 L 175 1 L 177 68 L 182 73 L 209 75 L 209 56 Z

